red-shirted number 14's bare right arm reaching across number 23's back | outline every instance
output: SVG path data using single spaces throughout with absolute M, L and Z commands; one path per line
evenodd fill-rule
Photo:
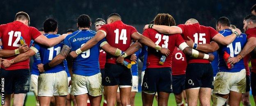
M 161 46 L 155 44 L 151 39 L 145 37 L 144 35 L 138 33 L 138 32 L 134 32 L 131 37 L 134 40 L 139 41 L 142 44 L 145 44 L 146 46 L 149 46 L 151 48 L 155 48 L 156 50 L 160 51 L 162 54 L 168 56 L 170 54 L 169 49 L 166 48 L 162 48 Z

